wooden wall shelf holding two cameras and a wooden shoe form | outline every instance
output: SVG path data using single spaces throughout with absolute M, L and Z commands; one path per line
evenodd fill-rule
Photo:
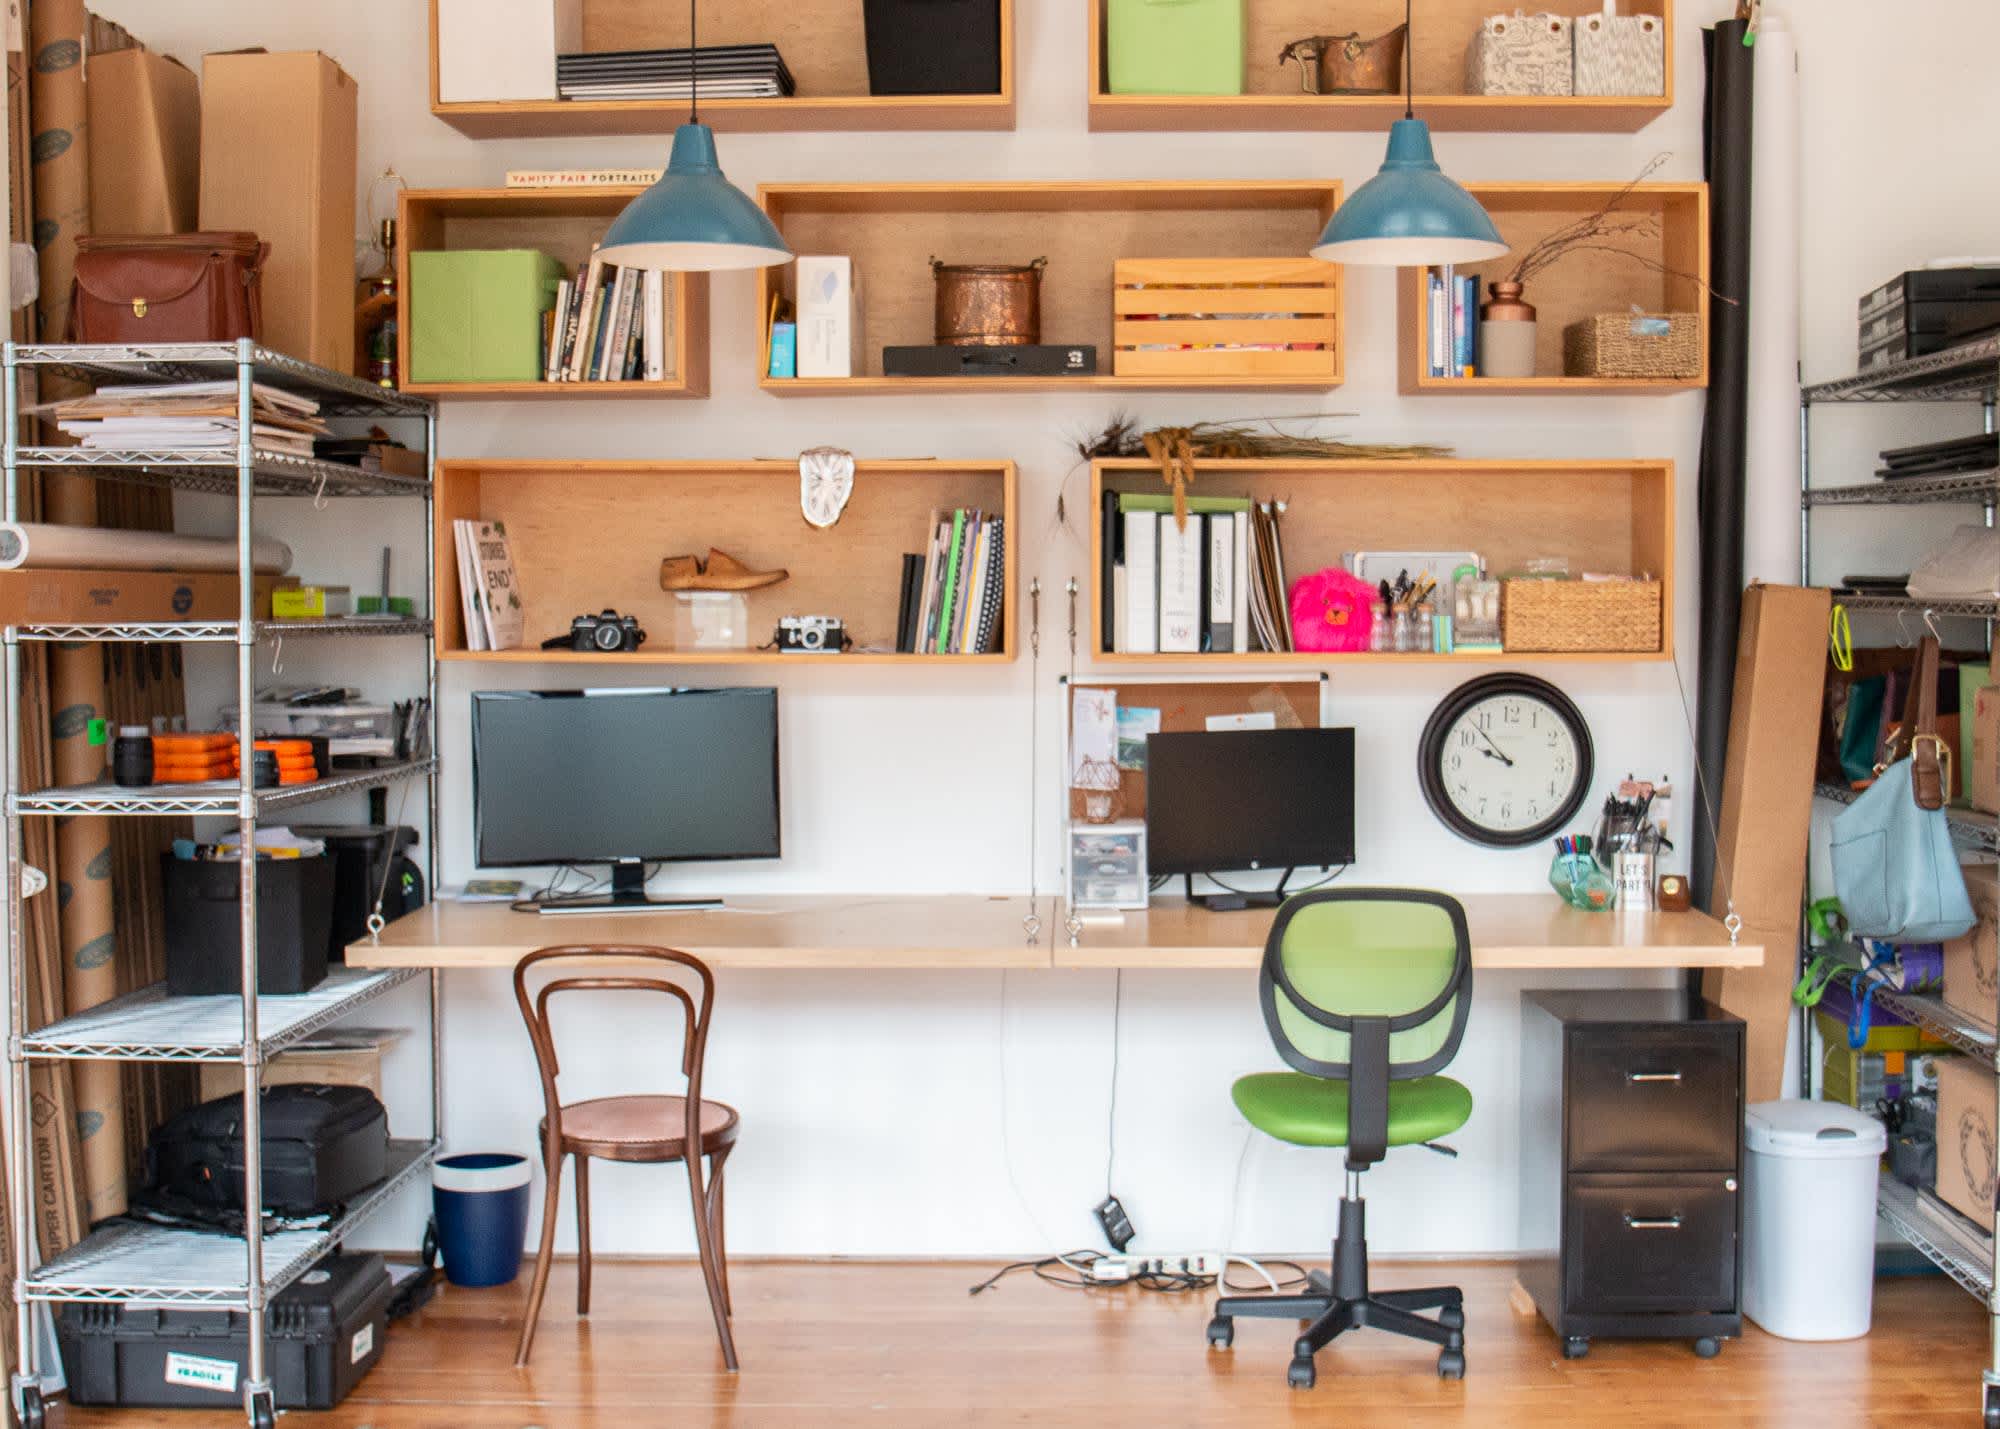
M 896 654 L 902 554 L 922 552 L 930 512 L 980 506 L 1006 518 L 1002 640 L 994 654 Z M 862 460 L 840 520 L 820 530 L 798 510 L 798 464 L 444 460 L 436 472 L 436 540 L 454 550 L 452 520 L 504 520 L 528 614 L 526 648 L 468 650 L 458 564 L 438 560 L 432 610 L 438 658 L 546 664 L 998 664 L 1016 650 L 1014 462 Z M 790 578 L 748 592 L 752 640 L 782 614 L 840 616 L 856 650 L 674 650 L 674 598 L 660 560 L 710 546 Z M 636 614 L 648 640 L 632 654 L 542 650 L 570 618 L 606 606 Z M 874 648 L 870 648 L 874 646 Z

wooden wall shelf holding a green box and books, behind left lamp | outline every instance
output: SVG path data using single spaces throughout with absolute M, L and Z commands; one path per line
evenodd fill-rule
M 398 200 L 396 284 L 410 292 L 410 252 L 434 248 L 540 248 L 568 268 L 632 202 L 638 188 L 404 188 Z M 408 298 L 406 298 L 408 300 Z M 708 274 L 668 276 L 674 362 L 664 382 L 404 382 L 420 396 L 488 400 L 708 396 Z M 396 370 L 410 370 L 410 324 L 396 334 Z

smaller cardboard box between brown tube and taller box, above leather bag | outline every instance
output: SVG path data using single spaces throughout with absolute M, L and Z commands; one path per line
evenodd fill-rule
M 90 230 L 194 232 L 200 214 L 202 86 L 150 50 L 90 56 Z

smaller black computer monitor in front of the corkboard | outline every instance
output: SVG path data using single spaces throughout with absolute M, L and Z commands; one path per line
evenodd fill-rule
M 1228 875 L 1354 863 L 1354 731 L 1250 729 L 1146 737 L 1150 873 Z M 1272 905 L 1270 891 L 1210 895 Z

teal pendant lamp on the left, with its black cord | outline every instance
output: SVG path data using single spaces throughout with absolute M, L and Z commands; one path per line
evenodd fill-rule
M 612 220 L 598 254 L 620 268 L 722 272 L 792 262 L 770 216 L 716 162 L 716 132 L 700 120 L 700 46 L 688 0 L 688 122 L 674 130 L 666 172 Z

